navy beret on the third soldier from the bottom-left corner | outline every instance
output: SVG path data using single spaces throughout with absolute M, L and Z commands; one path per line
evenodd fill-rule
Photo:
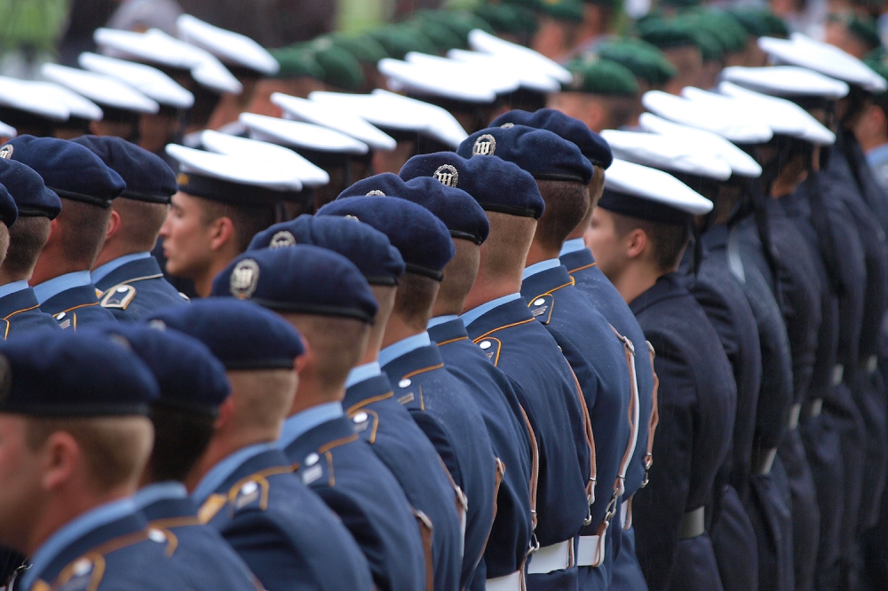
M 165 308 L 146 320 L 151 327 L 168 327 L 194 337 L 229 371 L 292 369 L 305 352 L 302 336 L 285 319 L 230 297 Z

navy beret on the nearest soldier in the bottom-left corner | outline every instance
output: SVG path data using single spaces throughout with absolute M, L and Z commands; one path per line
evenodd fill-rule
M 147 414 L 157 394 L 145 363 L 107 335 L 41 330 L 0 343 L 0 413 Z

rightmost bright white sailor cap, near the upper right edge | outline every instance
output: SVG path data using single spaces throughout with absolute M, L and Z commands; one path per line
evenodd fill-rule
M 801 33 L 793 33 L 789 39 L 759 37 L 758 46 L 778 64 L 807 67 L 868 91 L 882 92 L 888 88 L 888 81 L 860 59 Z

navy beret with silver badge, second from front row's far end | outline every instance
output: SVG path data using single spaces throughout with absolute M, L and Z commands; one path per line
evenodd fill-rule
M 526 125 L 488 127 L 463 140 L 456 150 L 463 158 L 498 156 L 527 170 L 536 180 L 574 181 L 589 185 L 592 165 L 567 139 Z

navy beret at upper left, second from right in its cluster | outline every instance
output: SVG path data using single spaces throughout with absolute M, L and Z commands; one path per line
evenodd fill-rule
M 57 138 L 19 136 L 0 146 L 0 158 L 27 164 L 59 197 L 111 207 L 126 183 L 89 148 Z

